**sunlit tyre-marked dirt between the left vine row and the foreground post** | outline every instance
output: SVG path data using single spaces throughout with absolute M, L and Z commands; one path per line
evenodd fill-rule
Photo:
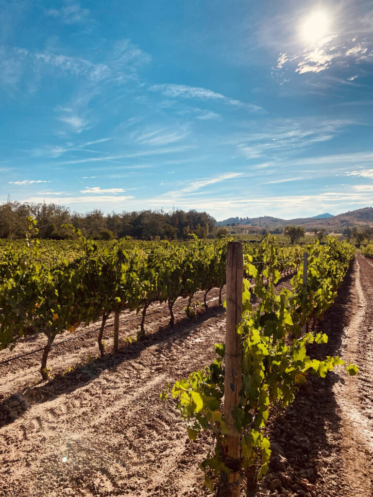
M 155 398 L 167 381 L 208 364 L 213 343 L 223 334 L 221 313 L 145 348 L 138 359 L 121 362 L 117 354 L 112 357 L 113 370 L 102 371 L 74 392 L 31 407 L 22 423 L 33 446 L 24 442 L 26 451 L 17 458 L 1 449 L 1 458 L 6 453 L 15 473 L 10 495 L 62 496 L 70 495 L 65 490 L 70 488 L 77 496 L 161 492 L 167 474 L 178 467 L 185 452 L 186 431 L 171 406 Z M 2 428 L 9 448 L 17 446 L 19 422 Z M 34 461 L 28 466 L 31 451 Z M 68 458 L 65 463 L 63 457 Z M 196 472 L 194 460 L 194 479 Z M 36 482 L 40 491 L 34 494 Z

